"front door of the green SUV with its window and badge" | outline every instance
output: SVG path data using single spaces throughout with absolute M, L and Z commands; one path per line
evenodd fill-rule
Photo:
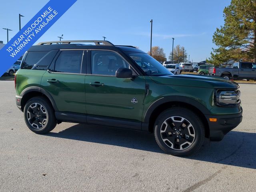
M 116 78 L 118 68 L 129 64 L 116 52 L 92 50 L 91 74 L 86 75 L 88 115 L 141 122 L 145 97 L 143 76 Z

